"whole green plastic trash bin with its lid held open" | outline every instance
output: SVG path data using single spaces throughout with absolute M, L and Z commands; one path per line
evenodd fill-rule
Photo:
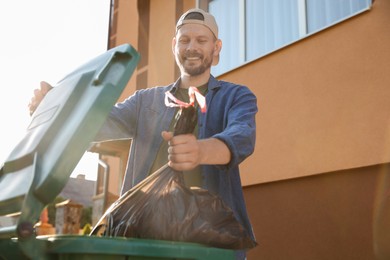
M 200 244 L 75 235 L 36 236 L 34 224 L 66 185 L 136 68 L 128 44 L 108 50 L 59 81 L 0 169 L 0 259 L 233 259 Z

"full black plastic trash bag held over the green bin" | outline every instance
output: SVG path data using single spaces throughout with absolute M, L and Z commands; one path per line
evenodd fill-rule
M 192 133 L 196 110 L 182 108 L 175 135 Z M 200 243 L 248 250 L 257 245 L 218 196 L 188 188 L 183 173 L 168 165 L 114 202 L 91 235 Z

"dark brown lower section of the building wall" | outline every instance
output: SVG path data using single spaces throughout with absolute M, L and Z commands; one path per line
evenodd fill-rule
M 259 243 L 248 260 L 390 259 L 389 248 L 387 258 L 375 257 L 375 247 L 389 241 L 389 215 L 375 217 L 382 186 L 390 192 L 389 170 L 374 165 L 245 187 Z

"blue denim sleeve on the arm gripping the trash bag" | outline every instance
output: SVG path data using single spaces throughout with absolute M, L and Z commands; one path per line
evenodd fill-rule
M 230 162 L 218 166 L 226 170 L 238 166 L 254 151 L 257 99 L 248 87 L 227 82 L 220 82 L 220 88 L 210 94 L 206 132 L 230 149 Z

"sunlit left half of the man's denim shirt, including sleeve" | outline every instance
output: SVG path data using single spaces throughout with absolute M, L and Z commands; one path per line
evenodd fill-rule
M 151 168 L 162 142 L 161 132 L 169 129 L 174 108 L 164 103 L 172 85 L 137 90 L 111 110 L 95 141 L 132 139 L 122 192 L 142 181 Z

